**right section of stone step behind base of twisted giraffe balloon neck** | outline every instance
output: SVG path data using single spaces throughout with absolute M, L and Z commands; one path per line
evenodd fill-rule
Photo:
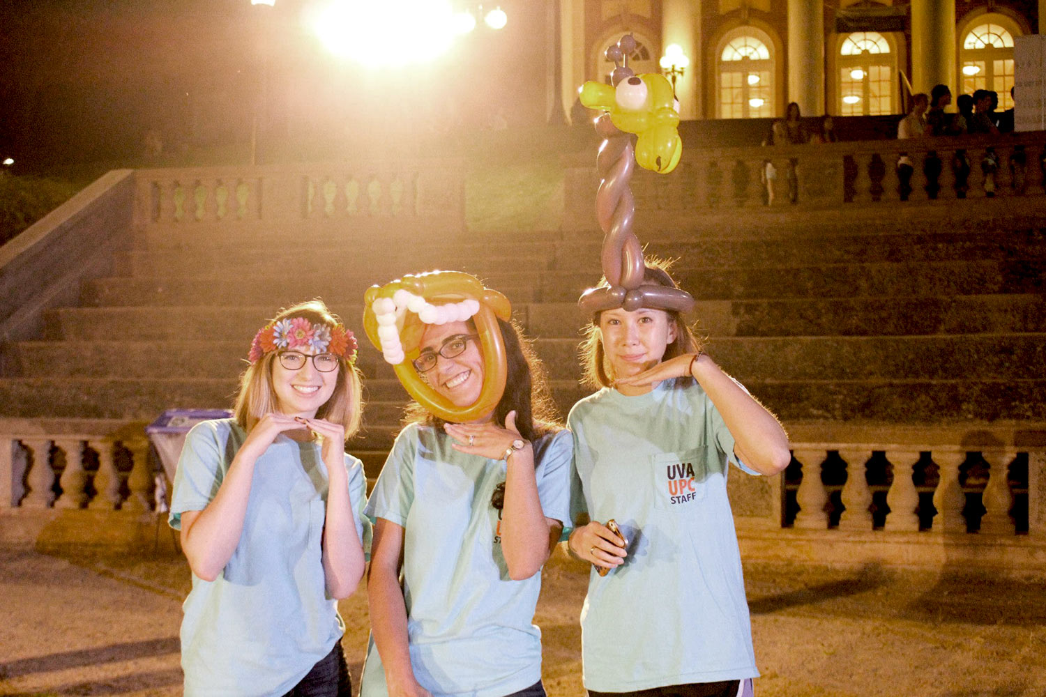
M 644 250 L 678 258 L 677 269 L 700 266 L 802 266 L 836 263 L 913 263 L 954 260 L 1043 260 L 1046 235 L 1040 229 L 906 232 L 804 238 L 798 235 L 755 239 L 647 239 Z M 599 272 L 602 235 L 571 239 L 551 248 L 555 269 Z

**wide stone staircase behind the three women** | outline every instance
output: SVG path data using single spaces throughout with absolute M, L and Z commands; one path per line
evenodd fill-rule
M 711 354 L 787 424 L 1042 421 L 1039 222 L 877 220 L 840 232 L 806 218 L 748 234 L 641 233 L 649 252 L 680 258 L 675 273 L 699 300 Z M 48 310 L 42 336 L 8 346 L 0 416 L 117 424 L 227 406 L 265 318 L 321 297 L 361 340 L 367 408 L 350 450 L 373 475 L 406 394 L 362 335 L 363 293 L 431 269 L 468 271 L 508 296 L 565 415 L 585 394 L 575 301 L 599 275 L 599 233 L 423 237 L 361 249 L 320 226 L 138 229 L 114 273 L 83 284 L 79 306 Z

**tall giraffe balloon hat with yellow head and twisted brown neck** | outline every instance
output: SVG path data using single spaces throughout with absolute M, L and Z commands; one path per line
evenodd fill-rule
M 596 218 L 602 229 L 602 275 L 607 285 L 582 294 L 582 309 L 597 312 L 623 307 L 630 312 L 640 307 L 688 312 L 693 298 L 681 288 L 643 285 L 645 264 L 639 239 L 632 232 L 636 205 L 629 188 L 633 162 L 666 175 L 679 164 L 683 153 L 679 137 L 679 108 L 672 85 L 663 75 L 635 75 L 628 56 L 635 50 L 632 34 L 621 37 L 607 49 L 613 61 L 613 85 L 585 83 L 582 103 L 601 109 L 595 131 L 604 141 L 596 157 L 599 190 L 595 198 Z M 638 136 L 633 145 L 631 134 Z

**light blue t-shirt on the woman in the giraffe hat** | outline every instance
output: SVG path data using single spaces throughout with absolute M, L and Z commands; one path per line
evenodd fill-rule
M 628 397 L 604 389 L 567 419 L 572 513 L 614 518 L 629 556 L 593 570 L 582 609 L 585 687 L 596 692 L 758 676 L 726 478 L 734 439 L 697 382 Z

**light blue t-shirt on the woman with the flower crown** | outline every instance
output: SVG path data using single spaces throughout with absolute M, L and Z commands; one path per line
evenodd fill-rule
M 169 522 L 218 493 L 247 434 L 232 419 L 204 421 L 185 439 Z M 348 492 L 364 538 L 363 465 L 345 456 Z M 323 573 L 327 471 L 319 443 L 285 435 L 254 465 L 244 529 L 213 581 L 192 576 L 182 606 L 185 695 L 283 695 L 326 656 L 344 632 Z

